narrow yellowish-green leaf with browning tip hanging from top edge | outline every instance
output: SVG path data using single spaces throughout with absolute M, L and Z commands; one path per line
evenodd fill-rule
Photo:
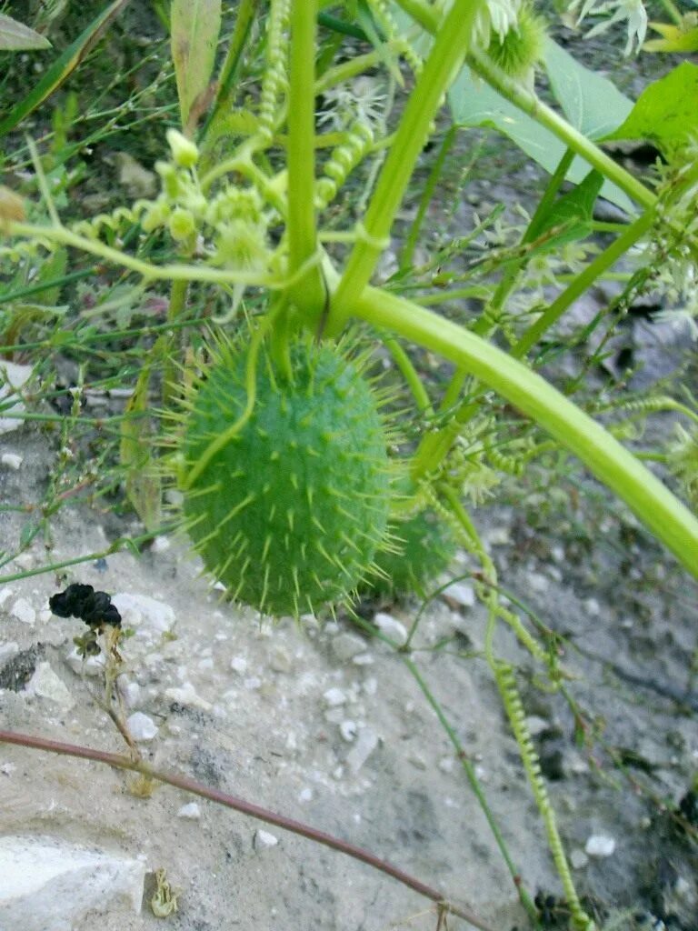
M 172 0 L 170 29 L 181 126 L 191 134 L 201 115 L 195 104 L 206 98 L 216 61 L 221 0 Z

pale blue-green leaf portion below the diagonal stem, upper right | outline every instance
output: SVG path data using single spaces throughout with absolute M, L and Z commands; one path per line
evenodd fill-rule
M 557 136 L 505 100 L 484 81 L 471 76 L 467 68 L 463 68 L 453 82 L 449 103 L 454 122 L 461 126 L 489 126 L 503 132 L 550 174 L 567 151 Z M 588 164 L 578 156 L 572 161 L 567 179 L 579 184 L 588 172 Z M 600 193 L 627 213 L 635 212 L 630 198 L 615 184 L 604 182 Z

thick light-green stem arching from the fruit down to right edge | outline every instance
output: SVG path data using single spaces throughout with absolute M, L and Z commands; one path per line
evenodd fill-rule
M 404 298 L 367 288 L 353 306 L 356 317 L 439 353 L 529 416 L 579 456 L 698 578 L 698 520 L 601 425 L 540 375 L 474 333 Z

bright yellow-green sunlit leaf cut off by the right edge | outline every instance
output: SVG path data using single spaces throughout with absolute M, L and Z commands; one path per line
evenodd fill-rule
M 645 88 L 610 139 L 646 139 L 671 158 L 698 132 L 698 65 L 684 61 Z

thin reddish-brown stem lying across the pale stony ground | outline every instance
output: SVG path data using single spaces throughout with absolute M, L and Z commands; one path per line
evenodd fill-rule
M 392 863 L 376 857 L 363 847 L 358 847 L 354 843 L 342 841 L 341 838 L 328 834 L 323 830 L 317 830 L 302 821 L 295 821 L 293 818 L 284 815 L 277 815 L 268 808 L 262 808 L 247 802 L 245 799 L 237 798 L 235 795 L 229 795 L 221 789 L 213 789 L 190 779 L 188 776 L 180 776 L 178 773 L 168 773 L 164 770 L 155 769 L 150 763 L 144 760 L 132 760 L 130 757 L 122 756 L 118 753 L 107 753 L 104 750 L 95 750 L 89 747 L 80 747 L 74 744 L 65 744 L 58 740 L 47 740 L 45 737 L 35 737 L 29 734 L 17 734 L 12 731 L 0 730 L 0 743 L 14 744 L 18 747 L 28 747 L 30 749 L 45 750 L 49 753 L 59 753 L 62 756 L 76 757 L 80 760 L 92 760 L 93 762 L 105 763 L 107 766 L 113 766 L 115 769 L 129 770 L 132 773 L 141 773 L 149 779 L 155 779 L 158 782 L 164 782 L 168 786 L 174 786 L 176 789 L 182 789 L 185 792 L 191 792 L 198 795 L 199 798 L 208 799 L 224 805 L 226 808 L 233 808 L 243 815 L 257 818 L 267 824 L 273 824 L 276 828 L 289 830 L 301 837 L 306 837 L 315 843 L 321 843 L 332 850 L 337 850 L 347 857 L 353 857 L 356 860 L 366 863 L 374 870 L 380 870 L 398 883 L 408 886 L 420 896 L 431 899 L 442 912 L 457 915 L 463 918 L 474 927 L 480 928 L 481 931 L 493 931 L 489 924 L 486 924 L 473 911 L 463 906 L 444 899 L 443 895 L 432 886 L 423 883 L 421 880 L 410 876 L 403 870 L 398 870 Z

